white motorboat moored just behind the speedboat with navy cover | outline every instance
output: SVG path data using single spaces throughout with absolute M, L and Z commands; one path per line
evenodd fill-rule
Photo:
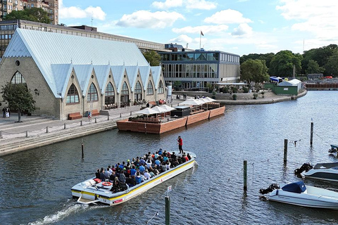
M 318 163 L 313 169 L 304 172 L 306 178 L 338 181 L 338 162 Z

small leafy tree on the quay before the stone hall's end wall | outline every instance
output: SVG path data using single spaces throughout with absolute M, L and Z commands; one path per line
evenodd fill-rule
M 18 122 L 20 122 L 22 111 L 27 110 L 32 113 L 38 109 L 26 84 L 7 83 L 2 86 L 1 93 L 4 101 L 8 102 L 9 108 L 18 110 Z

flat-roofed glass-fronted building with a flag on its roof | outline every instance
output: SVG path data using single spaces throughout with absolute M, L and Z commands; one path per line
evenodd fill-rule
M 205 89 L 207 84 L 239 82 L 239 56 L 223 51 L 161 52 L 165 82 L 182 82 L 182 89 Z

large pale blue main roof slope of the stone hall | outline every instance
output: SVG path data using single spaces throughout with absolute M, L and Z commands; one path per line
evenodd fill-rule
M 49 41 L 51 44 L 44 44 L 43 41 Z M 60 86 L 56 84 L 56 77 L 54 77 L 51 68 L 53 64 L 137 64 L 149 67 L 148 62 L 134 43 L 17 28 L 4 57 L 27 56 L 31 56 L 35 60 L 37 67 L 56 97 L 58 97 L 57 93 L 60 93 L 61 89 L 58 89 Z M 77 72 L 78 75 L 80 75 L 79 72 Z M 81 84 L 80 78 L 79 82 Z M 83 94 L 85 95 L 85 93 Z

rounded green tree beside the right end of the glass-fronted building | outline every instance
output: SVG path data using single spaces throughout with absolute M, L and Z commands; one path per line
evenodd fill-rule
M 246 60 L 241 65 L 241 79 L 246 80 L 248 83 L 265 82 L 268 81 L 268 68 L 264 60 Z

